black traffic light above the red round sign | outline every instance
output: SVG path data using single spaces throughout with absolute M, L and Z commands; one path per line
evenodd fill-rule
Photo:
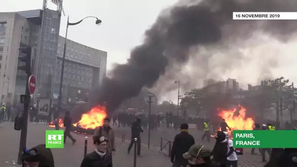
M 23 45 L 23 44 L 21 44 Z M 18 69 L 31 75 L 31 50 L 30 46 L 20 47 Z

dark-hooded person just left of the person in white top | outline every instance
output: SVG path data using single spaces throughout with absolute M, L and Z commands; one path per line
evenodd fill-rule
M 216 142 L 212 149 L 213 160 L 220 167 L 227 167 L 228 140 L 225 133 L 223 131 L 217 131 L 215 140 Z

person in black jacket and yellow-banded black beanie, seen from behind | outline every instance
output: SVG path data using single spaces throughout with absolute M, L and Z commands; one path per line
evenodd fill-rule
M 180 133 L 174 137 L 171 148 L 172 167 L 187 167 L 189 164 L 188 160 L 183 157 L 183 154 L 195 144 L 195 140 L 193 136 L 189 134 L 188 129 L 188 124 L 181 124 Z

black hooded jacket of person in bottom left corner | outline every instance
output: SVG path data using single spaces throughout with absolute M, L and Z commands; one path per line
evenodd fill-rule
M 45 145 L 38 145 L 33 147 L 37 154 L 29 155 L 23 154 L 21 157 L 22 161 L 28 162 L 39 162 L 39 167 L 55 167 L 54 157 L 50 148 L 46 148 Z

